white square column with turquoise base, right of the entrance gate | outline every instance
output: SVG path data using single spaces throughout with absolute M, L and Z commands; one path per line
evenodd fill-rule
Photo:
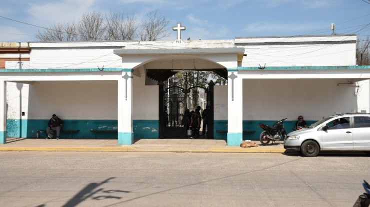
M 227 69 L 227 145 L 240 145 L 243 139 L 242 79 L 236 69 Z

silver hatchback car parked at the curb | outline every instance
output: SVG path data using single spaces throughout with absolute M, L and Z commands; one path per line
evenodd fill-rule
M 370 151 L 370 114 L 337 114 L 290 132 L 284 149 L 315 157 L 324 150 Z

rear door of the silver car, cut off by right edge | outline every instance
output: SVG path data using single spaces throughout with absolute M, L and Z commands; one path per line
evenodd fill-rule
M 370 116 L 355 116 L 353 120 L 353 148 L 370 150 Z

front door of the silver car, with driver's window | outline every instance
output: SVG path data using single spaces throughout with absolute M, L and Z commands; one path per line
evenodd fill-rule
M 339 119 L 331 120 L 326 123 L 329 129 L 321 131 L 322 149 L 353 149 L 353 134 L 349 124 L 349 117 L 344 117 L 340 120 L 346 120 L 346 123 L 339 124 Z

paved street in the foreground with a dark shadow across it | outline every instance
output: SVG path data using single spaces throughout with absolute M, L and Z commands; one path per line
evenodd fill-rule
M 0 152 L 2 207 L 349 207 L 364 154 Z

